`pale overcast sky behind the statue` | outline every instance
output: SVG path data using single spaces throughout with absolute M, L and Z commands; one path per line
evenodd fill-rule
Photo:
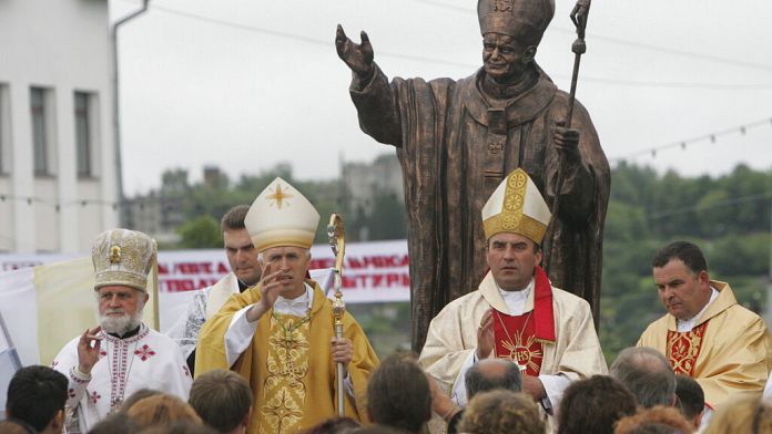
M 140 0 L 110 0 L 112 18 Z M 389 76 L 460 79 L 481 65 L 476 1 L 151 0 L 120 32 L 126 194 L 166 168 L 233 178 L 292 162 L 299 178 L 331 178 L 339 158 L 394 152 L 360 132 L 335 25 L 366 30 Z M 557 12 L 537 61 L 568 91 L 575 39 Z M 578 99 L 606 155 L 724 174 L 743 162 L 772 169 L 772 1 L 596 0 Z M 761 124 L 758 122 L 761 121 Z M 751 126 L 751 125 L 756 126 Z M 749 125 L 744 135 L 741 125 Z M 729 133 L 722 133 L 732 130 Z M 692 138 L 719 133 L 715 142 Z M 657 153 L 640 151 L 687 141 Z

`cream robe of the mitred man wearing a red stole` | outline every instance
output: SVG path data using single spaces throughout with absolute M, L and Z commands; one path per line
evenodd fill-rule
M 562 374 L 570 380 L 606 374 L 608 369 L 590 306 L 569 292 L 555 287 L 551 290 L 556 340 L 542 342 L 540 373 Z M 488 272 L 477 291 L 451 301 L 431 320 L 418 362 L 444 390 L 453 389 L 465 360 L 477 348 L 477 328 L 491 307 L 510 314 L 492 275 Z M 534 291 L 530 291 L 525 311 L 532 309 Z

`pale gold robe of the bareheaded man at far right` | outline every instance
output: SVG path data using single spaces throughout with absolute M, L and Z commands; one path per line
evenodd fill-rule
M 702 386 L 705 403 L 712 407 L 725 399 L 748 394 L 761 397 L 772 369 L 772 338 L 758 314 L 738 304 L 729 283 L 711 280 L 719 297 L 694 323 L 697 330 L 707 322 L 701 339 L 692 339 L 695 354 L 692 376 Z M 649 324 L 638 347 L 650 347 L 664 354 L 673 364 L 668 348 L 668 332 L 678 331 L 676 317 L 667 313 Z

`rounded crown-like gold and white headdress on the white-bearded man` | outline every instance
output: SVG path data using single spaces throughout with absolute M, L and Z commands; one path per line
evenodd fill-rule
M 145 234 L 111 229 L 98 235 L 91 248 L 94 289 L 124 286 L 146 291 L 155 255 L 155 240 Z

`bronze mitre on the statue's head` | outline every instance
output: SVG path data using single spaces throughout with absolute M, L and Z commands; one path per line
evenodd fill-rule
M 478 0 L 480 33 L 501 33 L 539 44 L 555 17 L 555 0 Z

